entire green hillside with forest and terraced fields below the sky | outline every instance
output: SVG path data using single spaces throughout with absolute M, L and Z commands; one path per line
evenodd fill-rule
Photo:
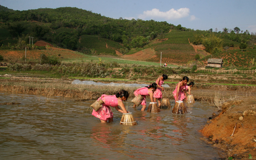
M 195 31 L 154 20 L 112 19 L 72 7 L 14 11 L 0 6 L 0 22 L 1 50 L 24 50 L 29 43 L 43 40 L 84 54 L 117 56 L 118 51 L 121 58 L 126 54 L 127 59 L 152 62 L 160 62 L 162 52 L 162 62 L 167 64 L 205 62 L 211 57 L 223 58 L 226 66 L 249 67 L 256 59 L 255 35 L 248 31 Z M 247 46 L 243 51 L 241 44 Z

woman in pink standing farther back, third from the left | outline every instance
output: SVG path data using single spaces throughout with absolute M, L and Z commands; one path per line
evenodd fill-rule
M 162 90 L 164 90 L 164 88 L 162 87 L 162 84 L 166 79 L 168 79 L 168 76 L 163 74 L 162 77 L 158 77 L 157 81 L 155 82 L 157 84 L 157 90 L 154 92 L 154 101 L 156 102 L 158 100 L 158 107 L 160 107 L 161 98 L 163 98 Z

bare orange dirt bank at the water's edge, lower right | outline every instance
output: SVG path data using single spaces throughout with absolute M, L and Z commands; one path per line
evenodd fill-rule
M 211 119 L 211 118 L 210 118 Z M 256 99 L 239 98 L 222 105 L 219 115 L 200 131 L 209 144 L 233 158 L 256 158 Z

